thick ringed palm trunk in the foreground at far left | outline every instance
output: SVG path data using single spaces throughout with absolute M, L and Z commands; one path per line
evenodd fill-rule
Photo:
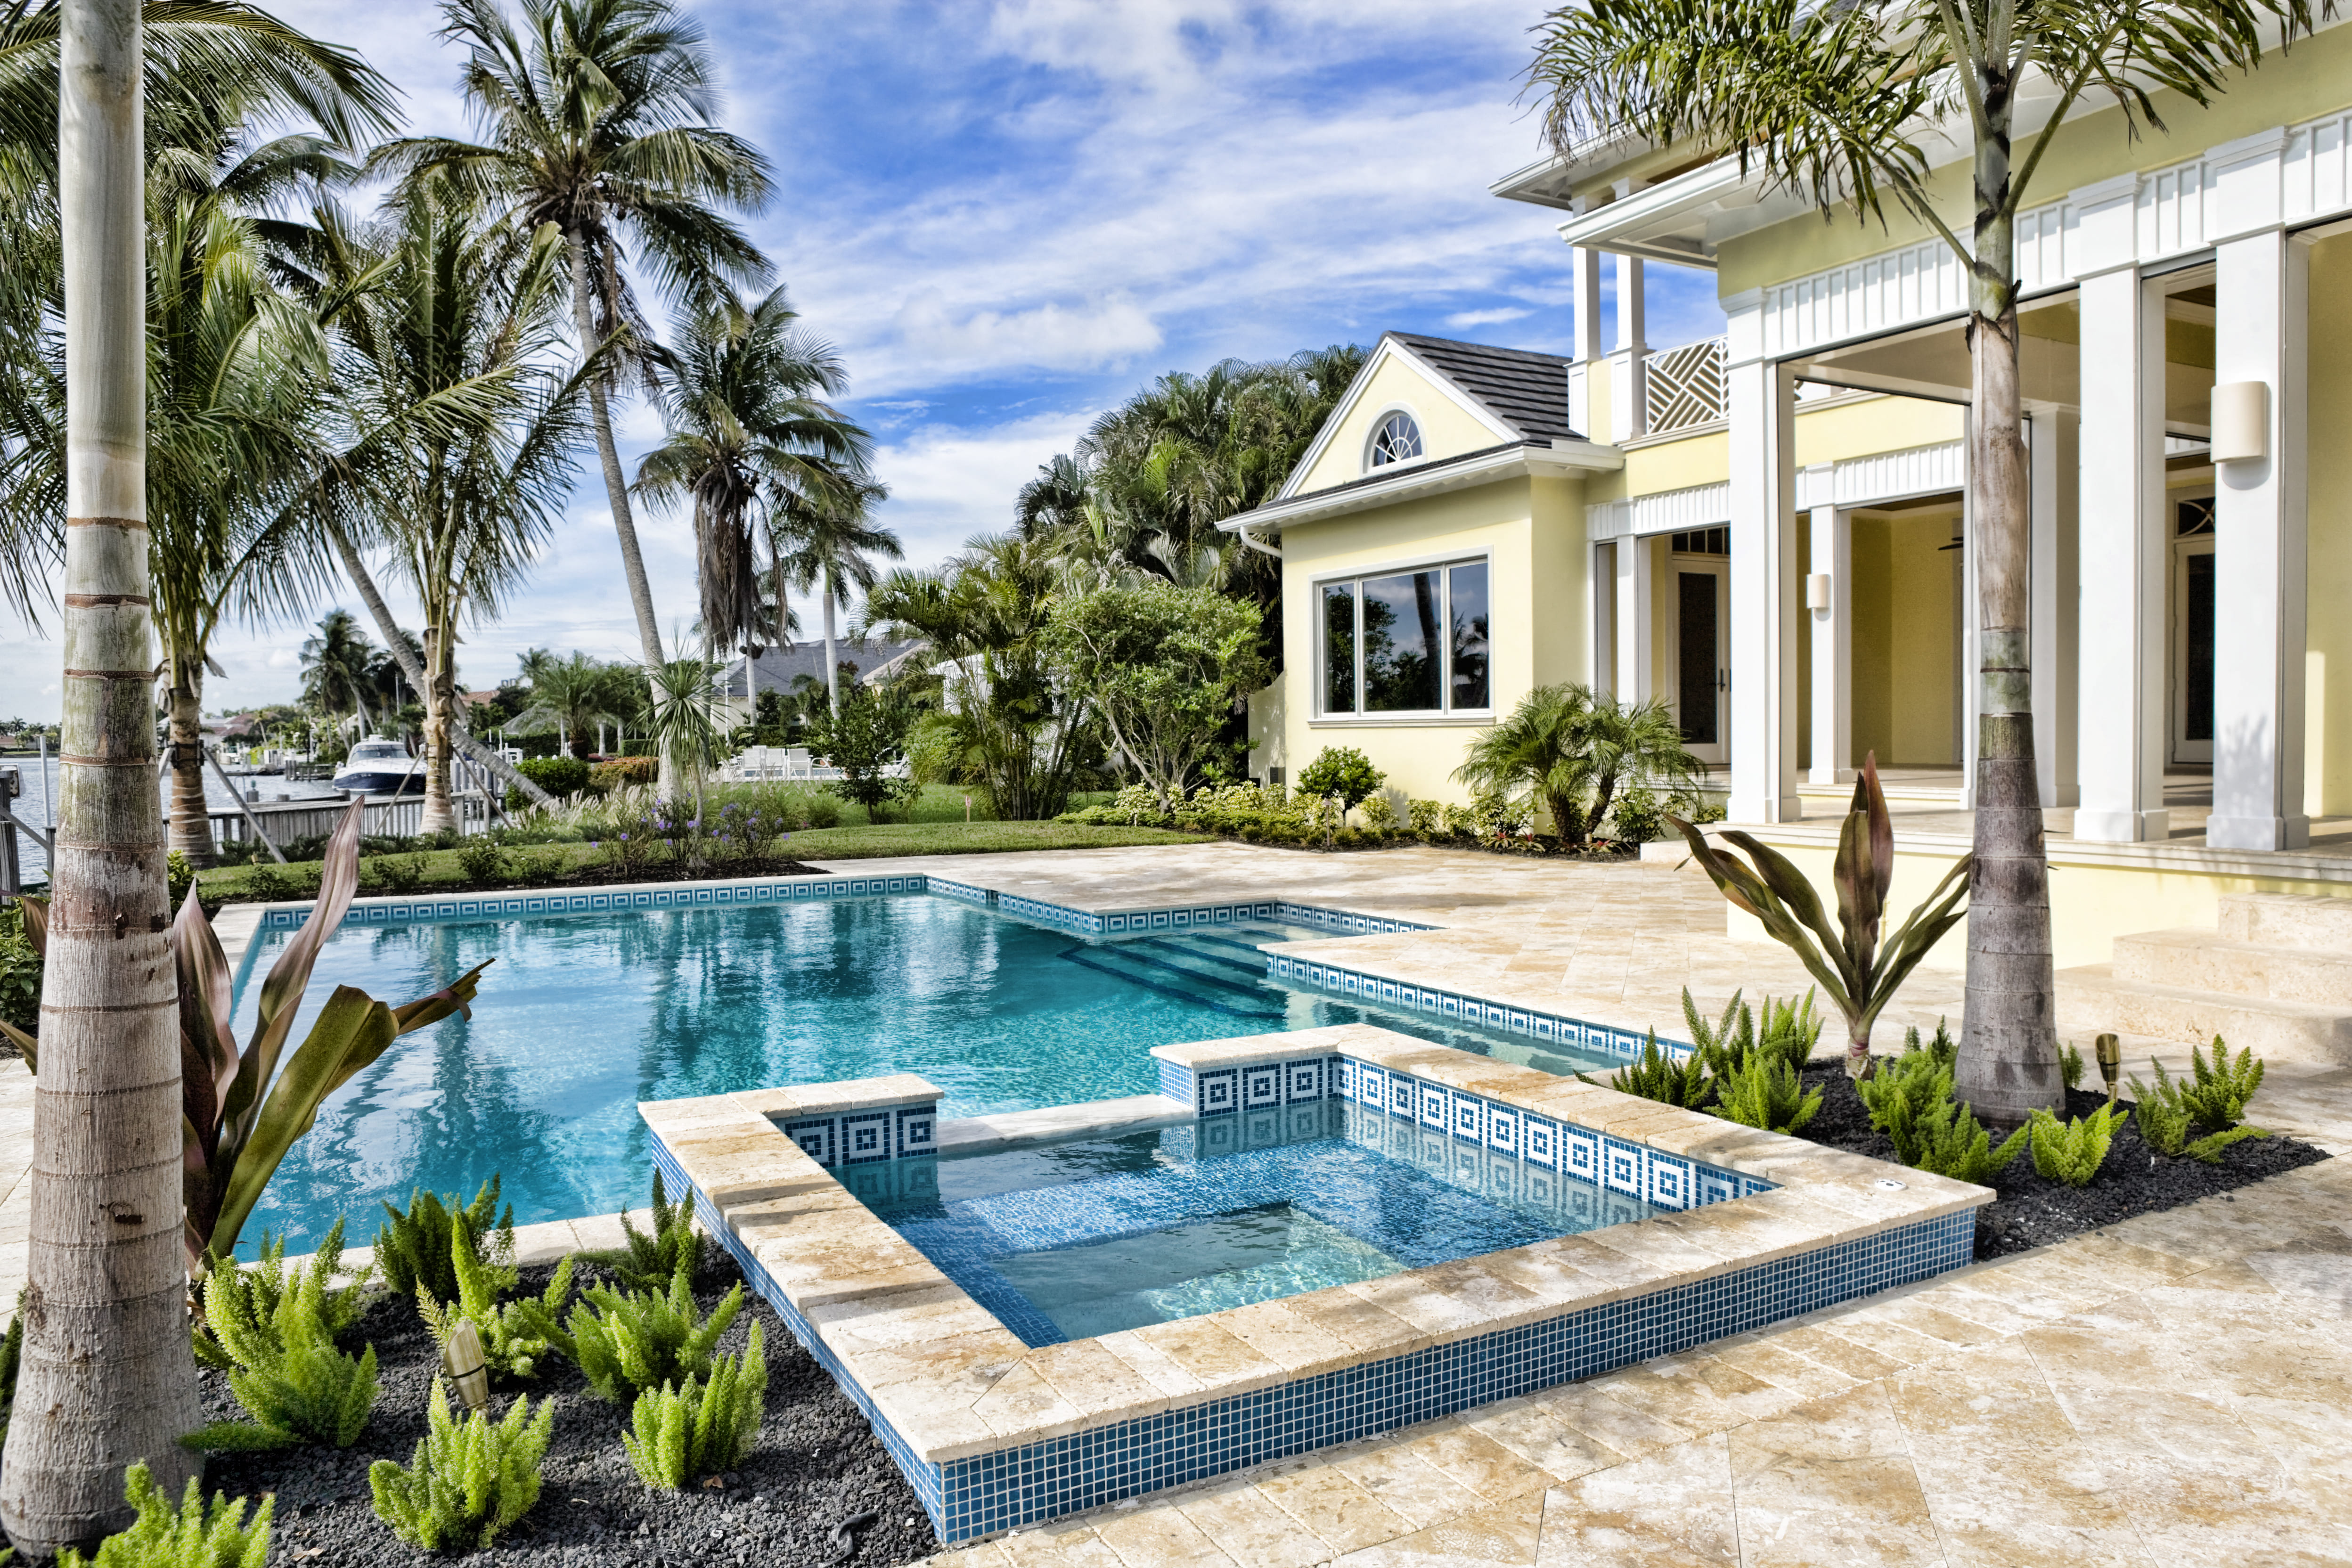
M 181 1251 L 179 1001 L 148 691 L 139 0 L 66 0 L 64 764 L 33 1095 L 24 1363 L 0 1523 L 31 1556 L 129 1523 L 122 1472 L 176 1497 L 202 1420 Z

